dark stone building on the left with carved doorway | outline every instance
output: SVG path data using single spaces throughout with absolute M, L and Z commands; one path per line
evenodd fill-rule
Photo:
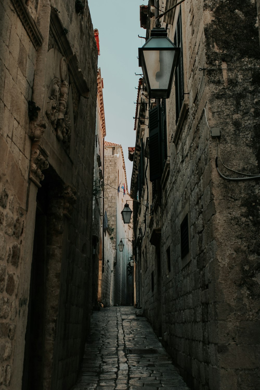
M 92 308 L 87 2 L 0 1 L 0 385 L 71 388 Z

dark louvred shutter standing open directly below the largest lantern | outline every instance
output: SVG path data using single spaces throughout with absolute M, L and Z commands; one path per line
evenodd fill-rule
M 161 107 L 149 111 L 149 162 L 150 181 L 161 178 Z

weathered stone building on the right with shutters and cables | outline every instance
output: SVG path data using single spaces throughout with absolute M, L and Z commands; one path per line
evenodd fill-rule
M 159 1 L 159 14 L 175 3 Z M 147 38 L 153 12 L 152 1 L 140 6 Z M 192 389 L 253 390 L 260 387 L 256 3 L 185 0 L 160 20 L 181 55 L 169 99 L 149 99 L 142 80 L 138 87 L 130 191 L 140 201 L 136 301 Z

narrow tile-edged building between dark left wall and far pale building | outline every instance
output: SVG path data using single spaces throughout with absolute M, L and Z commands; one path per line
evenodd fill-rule
M 97 39 L 97 30 L 95 30 Z M 97 45 L 99 48 L 99 44 Z M 107 211 L 104 206 L 105 188 L 103 178 L 106 175 L 104 166 L 104 138 L 106 124 L 103 104 L 103 78 L 100 68 L 97 70 L 97 115 L 94 153 L 94 188 L 93 188 L 93 228 L 92 228 L 92 260 L 93 260 L 93 305 L 113 306 L 114 250 L 111 242 L 111 230 L 108 229 Z

